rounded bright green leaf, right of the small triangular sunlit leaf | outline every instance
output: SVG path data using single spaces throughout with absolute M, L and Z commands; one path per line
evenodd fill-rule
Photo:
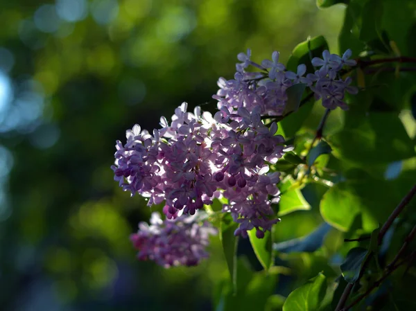
M 349 184 L 336 184 L 324 194 L 320 202 L 322 218 L 340 231 L 348 231 L 354 218 L 360 213 L 361 202 L 352 191 Z

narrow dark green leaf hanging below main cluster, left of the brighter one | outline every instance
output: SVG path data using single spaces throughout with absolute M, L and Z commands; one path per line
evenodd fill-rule
M 229 276 L 231 277 L 234 291 L 236 291 L 237 279 L 236 251 L 239 242 L 238 237 L 234 236 L 234 231 L 238 226 L 228 214 L 223 217 L 223 221 L 220 224 L 220 241 L 223 245 L 224 256 L 227 261 Z

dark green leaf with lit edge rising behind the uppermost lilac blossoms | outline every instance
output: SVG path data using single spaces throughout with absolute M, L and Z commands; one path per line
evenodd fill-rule
M 295 46 L 286 67 L 288 70 L 296 72 L 299 64 L 306 64 L 307 72 L 313 73 L 315 70 L 311 60 L 313 57 L 322 57 L 324 50 L 329 50 L 327 40 L 324 37 L 319 36 L 307 39 Z

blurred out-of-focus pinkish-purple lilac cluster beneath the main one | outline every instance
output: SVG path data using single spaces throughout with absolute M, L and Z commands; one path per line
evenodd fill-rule
M 209 235 L 215 233 L 209 222 L 198 224 L 196 215 L 162 220 L 159 213 L 153 213 L 150 225 L 140 222 L 139 231 L 130 240 L 139 251 L 139 260 L 154 260 L 166 268 L 194 266 L 208 257 L 205 247 L 209 244 Z

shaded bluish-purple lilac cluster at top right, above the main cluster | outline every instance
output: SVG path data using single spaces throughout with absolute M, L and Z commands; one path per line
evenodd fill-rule
M 351 78 L 343 80 L 339 78 L 339 72 L 344 66 L 354 66 L 355 60 L 349 60 L 352 52 L 347 50 L 343 57 L 322 53 L 323 59 L 313 58 L 313 66 L 321 68 L 315 73 L 306 74 L 306 65 L 297 66 L 297 72 L 286 71 L 284 64 L 279 63 L 279 52 L 272 53 L 272 60 L 263 60 L 257 64 L 250 60 L 251 51 L 247 54 L 240 53 L 236 64 L 234 80 L 218 80 L 218 93 L 213 97 L 218 100 L 218 109 L 236 111 L 239 107 L 245 107 L 251 111 L 259 107 L 261 115 L 281 116 L 284 114 L 288 100 L 286 90 L 297 84 L 304 83 L 315 93 L 315 99 L 322 99 L 322 105 L 329 109 L 340 107 L 348 109 L 343 101 L 345 91 L 356 94 L 357 89 L 349 86 Z M 260 71 L 246 72 L 248 66 L 253 66 Z M 306 74 L 306 75 L 305 75 Z

